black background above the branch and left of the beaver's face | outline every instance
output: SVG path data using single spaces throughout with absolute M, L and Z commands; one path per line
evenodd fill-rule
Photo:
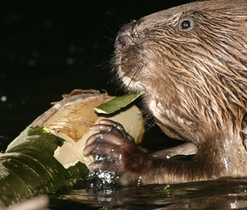
M 119 93 L 109 60 L 120 27 L 189 1 L 0 1 L 0 151 L 75 88 Z

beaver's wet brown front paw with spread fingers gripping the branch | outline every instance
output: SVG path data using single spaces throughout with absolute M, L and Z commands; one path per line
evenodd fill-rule
M 101 120 L 91 130 L 99 132 L 88 138 L 83 153 L 101 158 L 97 158 L 90 169 L 110 171 L 119 177 L 120 184 L 135 184 L 147 156 L 136 147 L 133 138 L 121 124 L 111 120 Z

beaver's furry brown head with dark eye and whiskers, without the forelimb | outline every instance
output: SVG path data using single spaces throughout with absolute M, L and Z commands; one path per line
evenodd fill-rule
M 145 92 L 168 135 L 198 141 L 205 129 L 241 132 L 247 1 L 194 2 L 154 13 L 123 26 L 115 47 L 123 84 Z

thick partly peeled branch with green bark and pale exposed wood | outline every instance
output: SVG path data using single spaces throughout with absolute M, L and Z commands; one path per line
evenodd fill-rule
M 134 105 L 111 115 L 94 108 L 113 99 L 96 90 L 74 90 L 35 119 L 0 154 L 0 207 L 23 201 L 37 193 L 55 192 L 69 180 L 82 177 L 94 161 L 84 156 L 89 127 L 107 118 L 121 123 L 140 143 L 144 120 Z

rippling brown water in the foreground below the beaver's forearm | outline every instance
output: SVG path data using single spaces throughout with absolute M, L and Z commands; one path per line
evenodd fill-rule
M 176 185 L 86 189 L 78 181 L 71 191 L 51 200 L 52 209 L 245 209 L 247 182 L 221 180 Z

